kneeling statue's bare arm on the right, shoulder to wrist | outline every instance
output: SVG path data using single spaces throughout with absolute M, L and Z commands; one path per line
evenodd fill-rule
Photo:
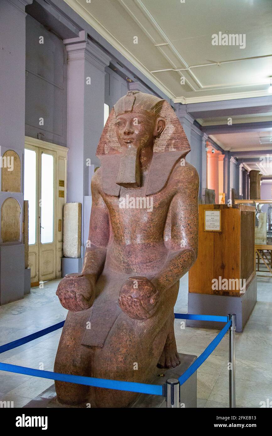
M 193 265 L 198 248 L 199 176 L 192 165 L 180 170 L 177 191 L 169 208 L 169 255 L 152 283 L 158 292 L 174 285 Z

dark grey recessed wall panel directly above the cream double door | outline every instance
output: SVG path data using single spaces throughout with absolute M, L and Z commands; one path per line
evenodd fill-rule
M 30 15 L 25 62 L 25 134 L 66 146 L 67 53 L 62 40 Z

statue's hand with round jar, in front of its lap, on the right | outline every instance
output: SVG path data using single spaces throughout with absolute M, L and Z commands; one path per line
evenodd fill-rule
M 135 320 L 146 320 L 158 307 L 159 294 L 146 277 L 129 277 L 119 293 L 119 306 Z

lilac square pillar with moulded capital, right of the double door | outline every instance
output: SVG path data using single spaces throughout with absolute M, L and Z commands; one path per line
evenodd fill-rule
M 103 130 L 105 67 L 110 64 L 110 57 L 87 38 L 85 31 L 63 43 L 68 54 L 67 202 L 82 204 L 83 229 L 90 220 L 90 173 L 100 166 L 95 154 Z M 84 219 L 88 222 L 84 223 Z M 81 235 L 83 258 L 85 232 Z M 81 262 L 76 259 L 70 264 L 63 266 L 66 273 L 81 269 Z

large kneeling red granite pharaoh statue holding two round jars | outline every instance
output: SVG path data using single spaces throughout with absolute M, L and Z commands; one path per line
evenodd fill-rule
M 174 335 L 179 279 L 198 244 L 196 169 L 174 110 L 130 91 L 112 111 L 96 155 L 81 274 L 57 295 L 69 310 L 55 372 L 148 383 L 180 364 Z M 55 381 L 59 402 L 127 407 L 139 394 Z

